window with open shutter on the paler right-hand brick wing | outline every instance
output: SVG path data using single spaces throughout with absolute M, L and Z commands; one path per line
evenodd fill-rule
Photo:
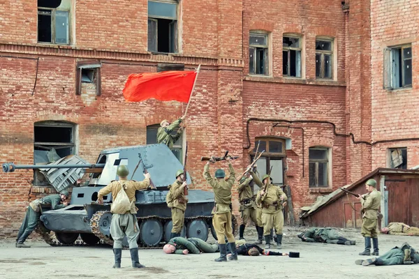
M 412 47 L 390 47 L 384 52 L 384 87 L 398 89 L 412 86 Z

